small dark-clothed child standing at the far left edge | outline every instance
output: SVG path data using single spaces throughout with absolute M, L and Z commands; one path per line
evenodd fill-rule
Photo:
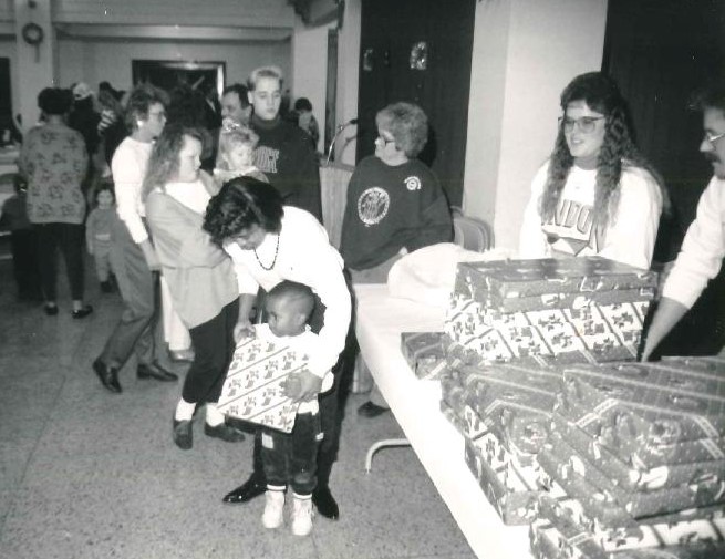
M 18 284 L 18 299 L 42 301 L 40 269 L 38 267 L 38 239 L 25 210 L 27 183 L 13 177 L 15 194 L 8 198 L 0 211 L 0 229 L 10 231 L 12 267 Z

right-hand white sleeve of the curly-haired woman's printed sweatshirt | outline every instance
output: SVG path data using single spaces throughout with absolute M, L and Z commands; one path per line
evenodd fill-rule
M 661 214 L 662 194 L 654 177 L 642 168 L 624 169 L 617 215 L 599 255 L 649 270 Z

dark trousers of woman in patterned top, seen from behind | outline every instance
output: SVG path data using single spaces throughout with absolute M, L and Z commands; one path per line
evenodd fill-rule
M 83 226 L 75 224 L 35 224 L 38 261 L 46 301 L 55 301 L 58 276 L 58 249 L 65 260 L 71 298 L 83 300 Z

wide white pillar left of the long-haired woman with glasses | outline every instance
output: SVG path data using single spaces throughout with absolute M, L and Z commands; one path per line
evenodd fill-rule
M 518 246 L 531 178 L 553 146 L 561 90 L 601 68 L 607 3 L 476 6 L 464 209 L 493 221 L 498 247 Z

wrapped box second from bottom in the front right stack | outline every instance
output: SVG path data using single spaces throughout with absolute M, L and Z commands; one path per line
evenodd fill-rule
M 623 489 L 579 455 L 558 432 L 551 433 L 539 454 L 539 463 L 549 475 L 580 479 L 598 498 L 617 503 L 634 518 L 725 503 L 725 484 L 713 479 L 641 491 Z

